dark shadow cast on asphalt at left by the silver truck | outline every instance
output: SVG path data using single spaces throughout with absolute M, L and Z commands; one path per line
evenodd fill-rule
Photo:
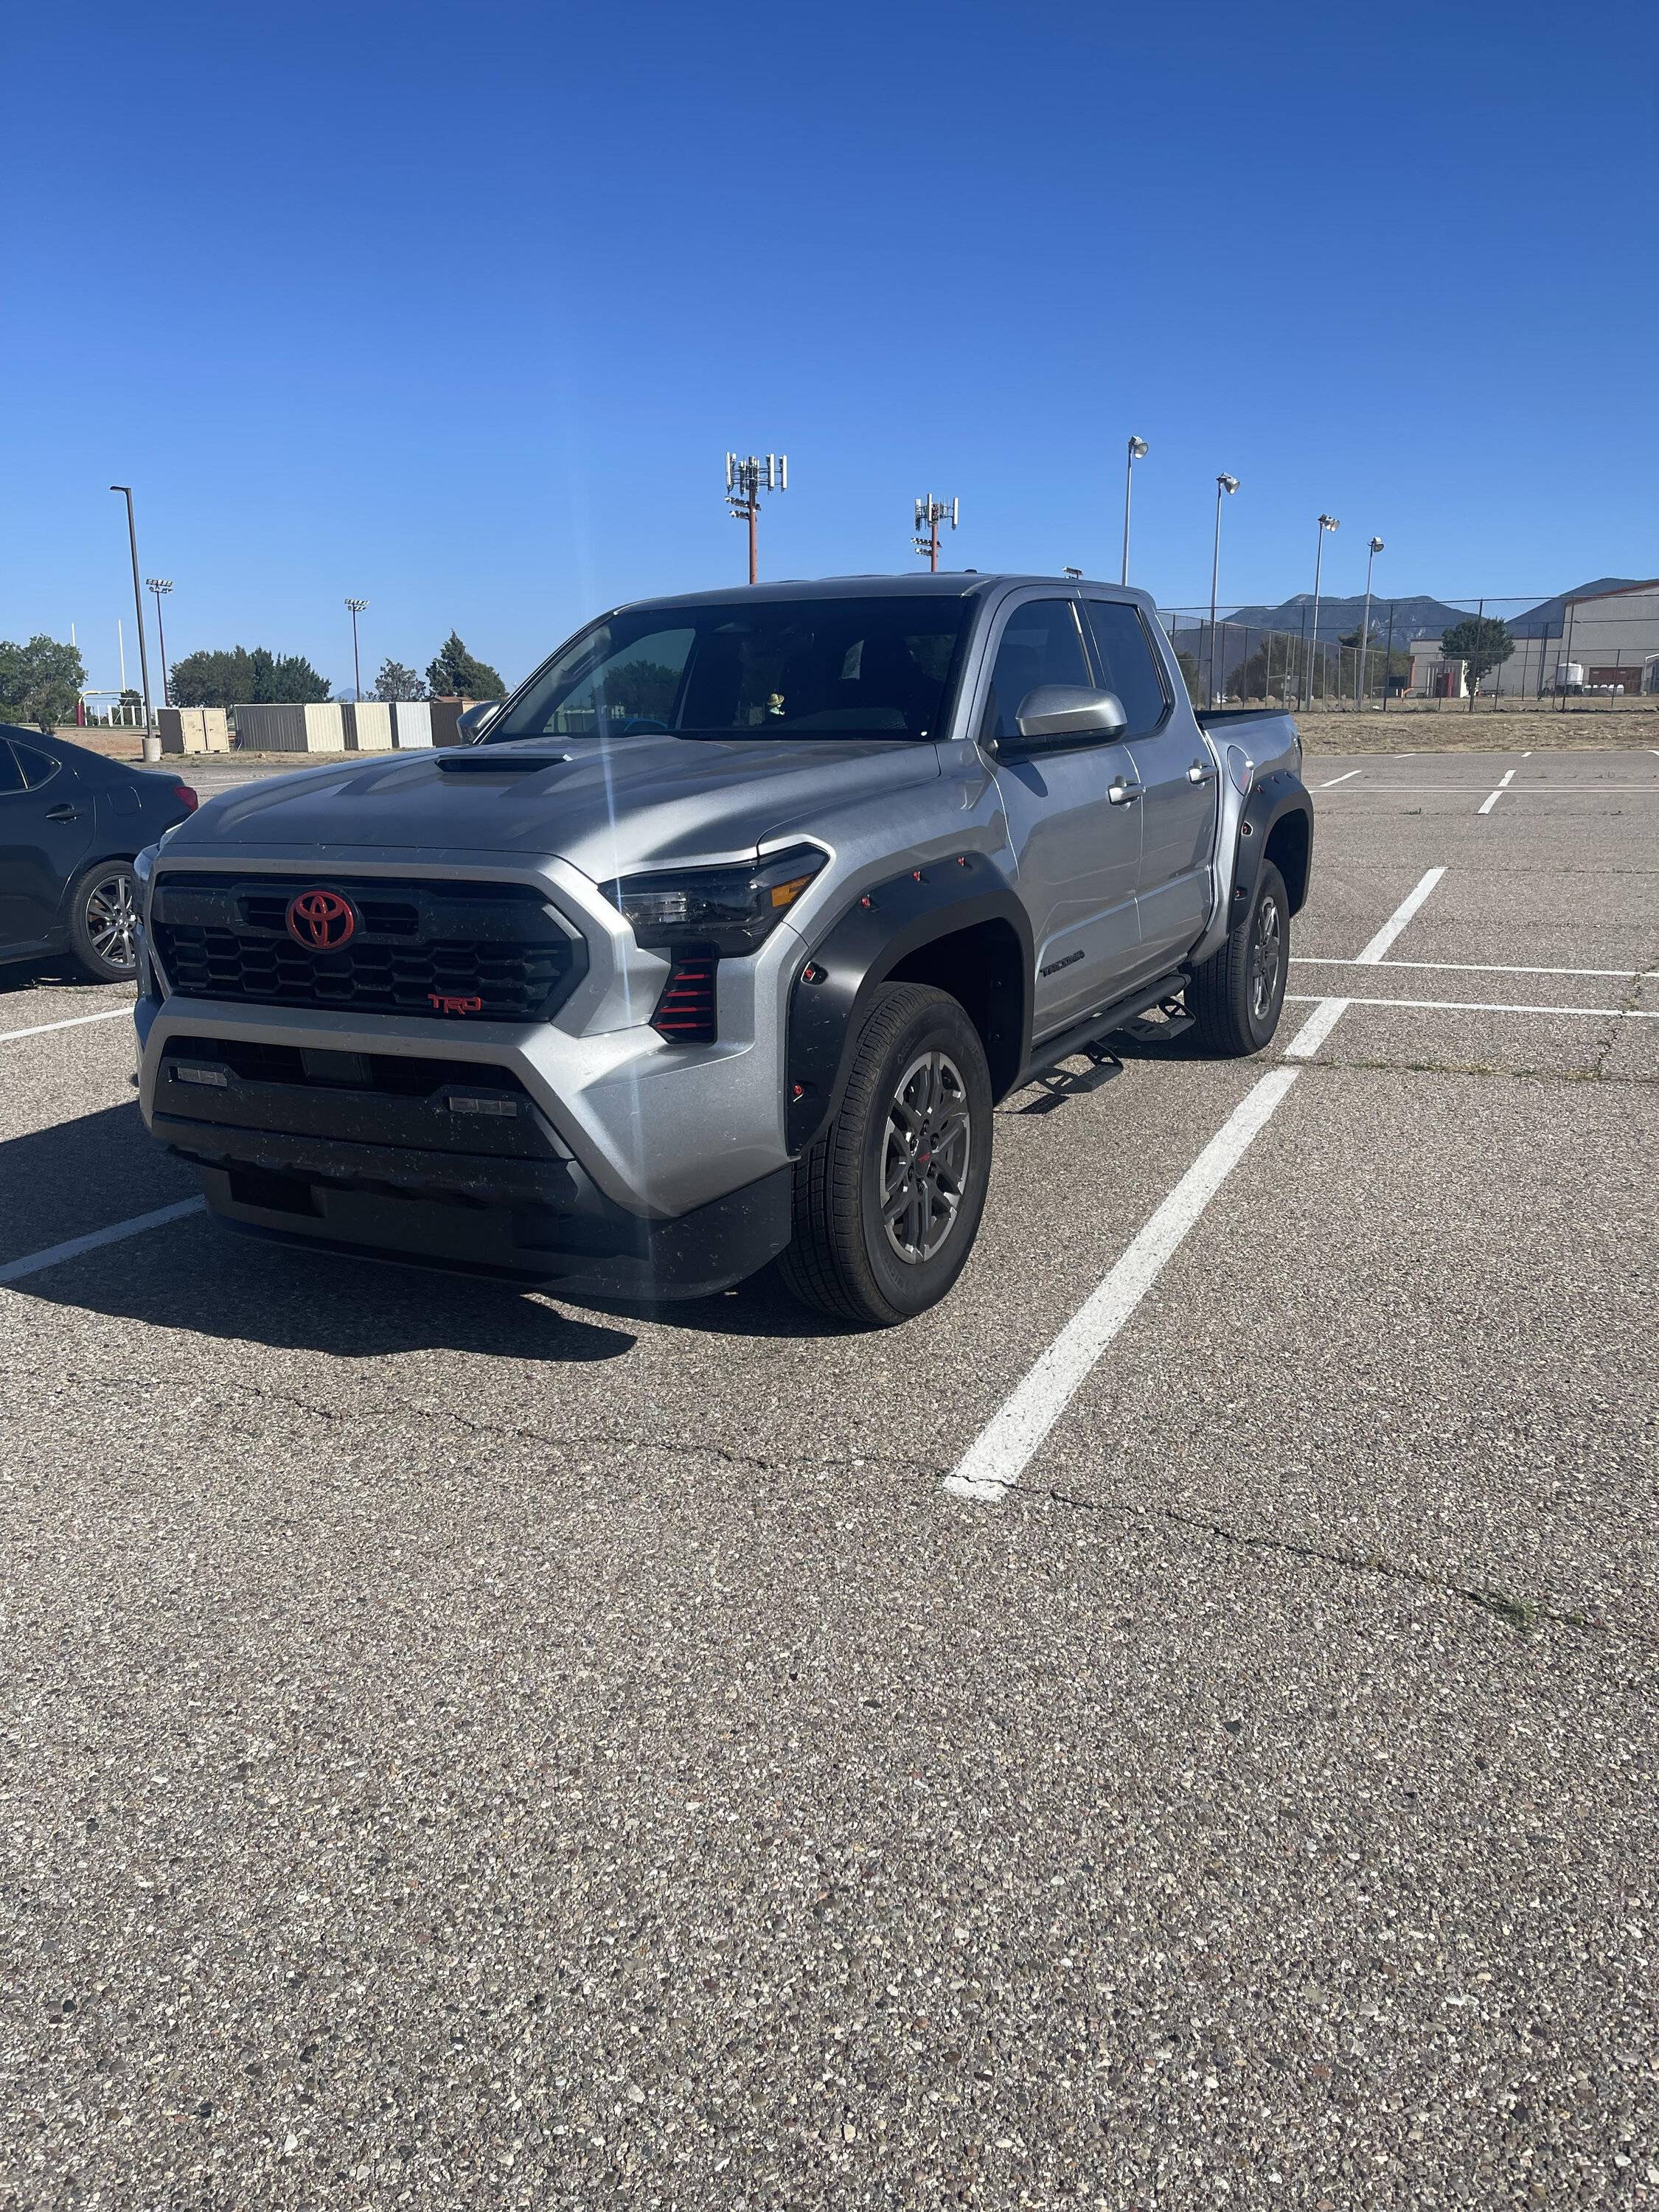
M 195 1197 L 197 1177 L 159 1152 L 137 1104 L 0 1144 L 0 1259 L 44 1252 Z M 586 1321 L 513 1283 L 296 1252 L 186 1217 L 7 1285 L 42 1307 L 343 1360 L 467 1352 L 507 1360 L 613 1360 L 626 1327 Z M 135 1343 L 142 1358 L 142 1340 Z

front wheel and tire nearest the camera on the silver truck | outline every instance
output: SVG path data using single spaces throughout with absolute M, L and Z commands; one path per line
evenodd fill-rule
M 984 1044 L 960 1002 L 883 984 L 841 1110 L 794 1170 L 794 1241 L 779 1263 L 794 1296 L 865 1329 L 938 1305 L 980 1232 L 991 1124 Z

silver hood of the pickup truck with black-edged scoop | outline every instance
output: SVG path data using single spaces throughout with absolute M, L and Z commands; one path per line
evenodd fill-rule
M 522 739 L 272 776 L 226 792 L 168 838 L 192 849 L 343 858 L 367 849 L 564 858 L 604 883 L 752 852 L 803 814 L 931 783 L 933 745 L 894 739 Z

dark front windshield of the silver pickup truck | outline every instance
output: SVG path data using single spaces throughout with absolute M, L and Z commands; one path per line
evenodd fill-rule
M 595 624 L 491 723 L 518 737 L 942 737 L 969 599 L 761 599 Z

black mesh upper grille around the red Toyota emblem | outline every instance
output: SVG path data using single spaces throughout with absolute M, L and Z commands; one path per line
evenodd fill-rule
M 349 902 L 345 945 L 314 949 L 290 936 L 290 900 L 319 889 Z M 429 1020 L 546 1020 L 586 967 L 582 938 L 542 891 L 518 883 L 168 872 L 150 936 L 179 998 Z

